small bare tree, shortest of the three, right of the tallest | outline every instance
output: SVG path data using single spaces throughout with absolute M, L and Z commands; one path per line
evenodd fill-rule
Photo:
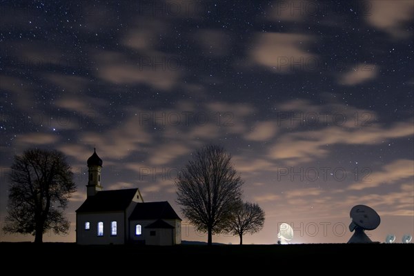
M 264 210 L 258 204 L 239 201 L 233 209 L 228 232 L 239 235 L 240 244 L 243 244 L 243 235 L 257 233 L 264 225 Z

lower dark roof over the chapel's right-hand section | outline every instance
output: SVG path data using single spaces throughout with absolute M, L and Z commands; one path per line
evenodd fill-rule
M 130 219 L 179 219 L 168 201 L 138 203 Z

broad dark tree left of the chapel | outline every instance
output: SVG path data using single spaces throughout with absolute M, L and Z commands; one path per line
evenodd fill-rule
M 43 233 L 68 233 L 70 223 L 61 209 L 76 191 L 66 157 L 57 150 L 30 149 L 14 156 L 10 172 L 6 233 L 34 235 L 43 242 Z

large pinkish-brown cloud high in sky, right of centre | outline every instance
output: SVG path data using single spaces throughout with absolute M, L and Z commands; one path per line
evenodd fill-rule
M 317 58 L 305 48 L 311 40 L 312 37 L 306 34 L 257 34 L 250 51 L 250 61 L 278 73 L 294 72 L 298 66 L 303 70 L 308 61 Z

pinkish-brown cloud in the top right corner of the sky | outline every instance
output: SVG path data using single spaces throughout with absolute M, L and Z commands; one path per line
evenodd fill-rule
M 383 30 L 396 39 L 411 37 L 413 32 L 406 28 L 414 17 L 414 2 L 377 1 L 369 2 L 370 9 L 366 21 L 375 28 Z

